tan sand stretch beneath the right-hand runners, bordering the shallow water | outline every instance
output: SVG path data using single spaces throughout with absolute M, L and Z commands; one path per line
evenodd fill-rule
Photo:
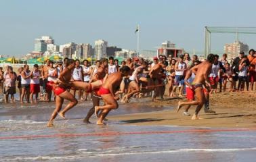
M 165 99 L 156 103 L 145 103 L 144 107 L 162 105 L 165 107 L 177 107 L 178 101 L 186 99 Z M 195 106 L 190 107 L 192 115 Z M 253 128 L 256 126 L 256 92 L 222 92 L 210 97 L 210 108 L 216 113 L 205 113 L 202 107 L 199 116 L 203 119 L 191 120 L 191 116 L 182 115 L 173 110 L 163 110 L 149 113 L 136 113 L 129 115 L 115 115 L 108 117 L 124 124 L 137 126 L 200 126 L 213 128 Z M 116 110 L 118 111 L 118 110 Z

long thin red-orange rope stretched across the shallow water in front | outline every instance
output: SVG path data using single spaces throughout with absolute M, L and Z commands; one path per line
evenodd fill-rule
M 251 129 L 218 129 L 218 130 L 169 130 L 169 131 L 146 131 L 146 132 L 105 132 L 105 133 L 87 133 L 87 134 L 41 134 L 25 136 L 0 136 L 0 140 L 12 139 L 31 139 L 31 138 L 58 138 L 58 137 L 85 137 L 85 136 L 121 136 L 131 134 L 176 134 L 176 133 L 206 133 L 206 132 L 248 132 L 256 131 Z

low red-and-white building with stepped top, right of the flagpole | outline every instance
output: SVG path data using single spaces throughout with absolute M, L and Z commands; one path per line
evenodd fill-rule
M 157 55 L 165 55 L 172 57 L 179 57 L 179 55 L 184 53 L 183 48 L 176 48 L 174 43 L 170 41 L 165 41 L 162 46 L 157 49 Z

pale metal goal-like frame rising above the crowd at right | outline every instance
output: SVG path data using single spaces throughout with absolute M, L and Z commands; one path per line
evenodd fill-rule
M 256 34 L 256 27 L 211 27 L 205 26 L 205 57 L 211 53 L 211 33 Z

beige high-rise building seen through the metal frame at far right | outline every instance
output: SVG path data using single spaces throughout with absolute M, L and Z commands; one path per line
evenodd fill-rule
M 227 53 L 228 60 L 238 57 L 241 51 L 247 53 L 249 51 L 249 46 L 247 44 L 241 43 L 240 41 L 235 41 L 234 43 L 227 43 L 224 45 L 224 53 Z

